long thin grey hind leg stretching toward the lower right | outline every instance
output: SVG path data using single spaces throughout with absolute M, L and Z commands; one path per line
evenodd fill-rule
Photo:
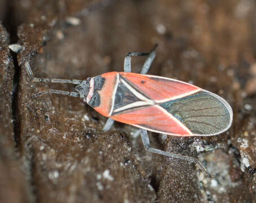
M 189 156 L 183 156 L 183 155 L 176 155 L 175 153 L 164 152 L 160 149 L 152 148 L 150 145 L 150 142 L 149 142 L 149 136 L 147 135 L 147 131 L 144 129 L 140 129 L 140 131 L 141 131 L 142 143 L 143 143 L 146 151 L 157 153 L 159 155 L 164 155 L 164 156 L 168 156 L 168 157 L 172 157 L 172 158 L 179 158 L 181 160 L 193 162 L 194 164 L 196 164 L 199 167 L 199 169 L 201 171 L 203 171 L 203 173 L 205 175 L 207 175 L 209 178 L 212 178 L 212 175 L 205 169 L 205 167 L 203 167 L 203 165 L 196 158 L 189 157 Z

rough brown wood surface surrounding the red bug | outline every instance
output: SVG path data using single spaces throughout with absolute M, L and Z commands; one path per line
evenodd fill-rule
M 0 0 L 0 5 L 0 202 L 255 200 L 254 1 Z M 14 54 L 9 43 L 23 48 Z M 128 52 L 149 51 L 155 43 L 150 74 L 193 82 L 233 107 L 233 125 L 222 135 L 150 135 L 154 147 L 200 155 L 214 179 L 188 162 L 146 153 L 133 127 L 115 123 L 102 133 L 106 118 L 79 99 L 31 96 L 73 87 L 33 83 L 25 61 L 37 77 L 83 80 L 121 71 Z M 133 72 L 144 60 L 132 58 Z

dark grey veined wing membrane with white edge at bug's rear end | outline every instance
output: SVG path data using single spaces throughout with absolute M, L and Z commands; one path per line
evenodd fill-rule
M 217 135 L 226 131 L 232 123 L 233 113 L 227 101 L 205 90 L 159 105 L 194 135 Z

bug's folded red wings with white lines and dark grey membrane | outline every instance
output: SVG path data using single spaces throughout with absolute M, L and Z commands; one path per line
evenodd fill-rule
M 129 98 L 133 94 L 137 99 L 122 106 L 127 95 L 121 96 L 111 116 L 116 121 L 176 136 L 217 135 L 231 126 L 232 109 L 216 94 L 169 78 L 136 73 L 120 76 Z

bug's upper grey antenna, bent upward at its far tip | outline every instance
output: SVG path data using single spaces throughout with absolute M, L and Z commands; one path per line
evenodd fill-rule
M 37 78 L 37 77 L 34 77 L 34 74 L 31 70 L 31 67 L 30 67 L 28 61 L 25 62 L 25 68 L 27 69 L 27 73 L 32 78 L 33 82 L 72 83 L 72 84 L 75 84 L 75 85 L 79 85 L 82 82 L 80 80 L 64 80 L 64 79 L 57 79 L 57 78 Z

